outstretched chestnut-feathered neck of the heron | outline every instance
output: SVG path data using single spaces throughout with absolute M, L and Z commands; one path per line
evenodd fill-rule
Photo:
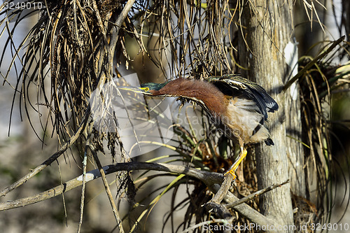
M 177 78 L 160 90 L 150 90 L 153 96 L 188 97 L 203 101 L 212 115 L 222 115 L 225 111 L 225 95 L 217 87 L 202 80 Z

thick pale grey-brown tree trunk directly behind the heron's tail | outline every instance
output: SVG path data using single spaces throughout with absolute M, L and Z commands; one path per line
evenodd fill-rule
M 268 123 L 275 145 L 261 143 L 255 150 L 258 186 L 265 188 L 288 179 L 291 181 L 262 195 L 260 210 L 279 225 L 293 225 L 290 188 L 297 195 L 304 196 L 305 192 L 302 148 L 295 140 L 300 140 L 301 132 L 298 86 L 282 92 L 292 74 L 289 66 L 297 61 L 291 16 L 293 6 L 291 1 L 253 0 L 245 1 L 243 7 L 240 22 L 243 37 L 239 42 L 241 64 L 248 67 L 246 76 L 265 87 L 279 104 L 279 111 L 269 114 Z

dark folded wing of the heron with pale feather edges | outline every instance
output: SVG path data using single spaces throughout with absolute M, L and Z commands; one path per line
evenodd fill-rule
M 267 119 L 267 112 L 274 112 L 279 109 L 279 105 L 267 94 L 266 90 L 239 74 L 225 74 L 223 76 L 212 76 L 207 78 L 209 83 L 213 83 L 219 90 L 232 96 L 244 96 L 253 99 L 261 113 Z

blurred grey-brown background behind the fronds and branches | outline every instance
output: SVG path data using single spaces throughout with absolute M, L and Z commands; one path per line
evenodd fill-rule
M 311 1 L 312 2 L 312 1 Z M 0 2 L 1 3 L 1 2 Z M 318 52 L 319 41 L 330 40 L 334 41 L 340 36 L 346 34 L 344 27 L 339 27 L 343 17 L 348 17 L 344 14 L 342 1 L 325 1 L 325 8 L 315 4 L 318 8 L 318 17 L 323 22 L 323 29 L 317 20 L 309 22 L 307 15 L 304 13 L 304 6 L 300 1 L 296 1 L 295 5 L 295 33 L 298 43 L 300 57 L 314 57 Z M 4 17 L 2 15 L 1 17 Z M 315 16 L 314 16 L 315 17 Z M 1 18 L 2 19 L 2 18 Z M 25 38 L 27 32 L 38 21 L 38 15 L 28 17 L 28 20 L 21 22 L 16 26 L 16 34 L 14 41 L 18 44 Z M 13 22 L 8 24 L 8 27 L 13 28 Z M 3 25 L 0 30 L 3 30 Z M 312 28 L 311 28 L 312 27 Z M 4 31 L 3 33 L 6 33 Z M 145 38 L 146 40 L 146 38 Z M 146 42 L 145 42 L 146 43 Z M 5 36 L 0 38 L 0 50 L 3 50 L 5 45 Z M 132 61 L 128 62 L 128 66 L 118 66 L 118 72 L 122 76 L 137 73 L 141 82 L 149 81 L 162 83 L 166 80 L 165 73 L 162 72 L 146 55 L 138 52 L 139 45 L 132 38 L 125 40 L 127 53 L 132 57 Z M 20 52 L 22 52 L 21 50 Z M 13 54 L 6 52 L 4 61 L 10 63 Z M 22 54 L 19 54 L 22 57 Z M 20 64 L 20 60 L 16 59 Z M 342 59 L 332 59 L 334 64 L 346 64 L 349 69 L 349 57 Z M 121 64 L 125 64 L 122 61 Z M 115 66 L 117 66 L 115 64 Z M 1 66 L 1 73 L 6 73 L 8 66 Z M 36 111 L 23 111 L 23 99 L 20 95 L 14 95 L 15 83 L 18 73 L 15 70 L 10 71 L 9 78 L 3 81 L 0 85 L 0 188 L 5 188 L 18 178 L 29 172 L 29 169 L 34 169 L 38 164 L 41 164 L 48 155 L 55 153 L 57 150 L 57 138 L 55 134 L 45 136 L 45 140 L 41 141 L 43 132 L 40 130 L 43 121 L 38 118 L 39 114 L 48 114 L 44 111 L 36 113 Z M 343 77 L 349 82 L 349 73 Z M 32 99 L 36 98 L 36 89 L 31 88 L 31 92 L 27 93 Z M 174 101 L 174 100 L 173 100 Z M 179 104 L 177 102 L 169 102 L 169 105 Z M 329 104 L 329 103 L 328 103 Z M 332 207 L 335 211 L 331 216 L 330 223 L 345 223 L 350 224 L 350 211 L 347 209 L 349 204 L 349 152 L 350 152 L 350 98 L 349 86 L 343 90 L 335 90 L 332 92 L 331 108 L 329 107 L 329 120 L 332 120 L 332 151 L 335 156 L 335 161 L 339 166 L 339 173 L 333 174 L 335 182 L 333 195 L 335 197 Z M 185 107 L 186 109 L 186 107 Z M 27 114 L 31 116 L 30 122 Z M 176 114 L 176 113 L 174 113 Z M 42 117 L 42 115 L 41 115 Z M 50 126 L 49 126 L 50 127 Z M 36 129 L 36 130 L 34 130 Z M 51 129 L 52 131 L 52 129 Z M 50 128 L 47 132 L 50 132 Z M 38 134 L 38 135 L 36 135 Z M 141 155 L 134 160 L 146 161 L 160 155 L 171 153 L 165 148 L 155 150 L 146 155 Z M 110 155 L 106 153 L 105 157 L 101 158 L 102 162 L 108 164 Z M 160 160 L 162 162 L 162 160 Z M 31 179 L 22 187 L 10 192 L 6 195 L 6 200 L 19 199 L 21 197 L 29 197 L 31 195 L 43 192 L 49 188 L 55 187 L 62 181 L 80 176 L 81 174 L 81 159 L 78 152 L 74 149 L 67 152 L 64 157 L 59 159 L 59 162 L 52 163 L 49 169 L 44 169 L 35 178 Z M 340 169 L 341 168 L 341 169 Z M 94 169 L 88 167 L 87 170 Z M 69 172 L 63 172 L 67 171 Z M 136 176 L 137 173 L 135 173 Z M 109 182 L 113 182 L 115 178 L 109 177 Z M 172 178 L 165 176 L 163 182 L 169 183 Z M 159 185 L 159 181 L 154 181 L 154 185 Z M 153 187 L 155 187 L 153 186 Z M 153 190 L 152 182 L 147 188 L 139 190 L 138 195 L 147 196 L 148 192 Z M 117 192 L 117 186 L 111 185 L 112 193 Z M 178 193 L 186 192 L 186 188 L 179 190 Z M 116 224 L 111 213 L 109 200 L 106 198 L 104 186 L 101 181 L 92 181 L 87 183 L 86 202 L 84 213 L 84 224 L 82 232 L 113 232 Z M 30 206 L 25 206 L 19 209 L 0 212 L 0 229 L 1 232 L 76 232 L 80 215 L 80 194 L 81 189 L 76 188 L 64 194 L 64 197 L 59 196 L 48 199 L 45 202 L 40 202 Z M 340 194 L 340 195 L 339 195 Z M 176 196 L 176 198 L 183 198 Z M 151 199 L 151 197 L 148 197 Z M 142 229 L 138 232 L 161 232 L 162 222 L 164 221 L 165 213 L 169 210 L 169 202 L 167 199 L 172 199 L 172 194 L 168 193 L 158 202 L 146 218 L 143 219 L 146 224 L 141 225 Z M 3 199 L 1 199 L 1 202 Z M 123 198 L 120 202 L 123 210 L 121 213 L 127 213 L 130 206 L 127 198 Z M 167 206 L 167 208 L 165 208 Z M 174 223 L 180 225 L 183 221 L 185 209 L 175 213 Z M 134 220 L 139 216 L 139 213 L 134 213 Z M 177 218 L 176 218 L 177 217 Z M 133 217 L 130 217 L 131 220 Z M 140 227 L 140 228 L 141 228 Z M 165 228 L 167 229 L 167 228 Z M 167 232 L 167 230 L 165 230 Z M 347 232 L 331 231 L 331 232 Z

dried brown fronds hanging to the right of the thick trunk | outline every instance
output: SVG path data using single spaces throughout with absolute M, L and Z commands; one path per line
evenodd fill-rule
M 326 41 L 323 44 L 320 54 L 330 45 Z M 341 51 L 336 47 L 328 50 L 322 58 L 305 56 L 299 59 L 299 69 L 302 71 L 299 83 L 308 196 L 304 200 L 295 197 L 295 203 L 309 206 L 307 208 L 309 211 L 305 210 L 309 215 L 297 216 L 300 225 L 310 220 L 317 223 L 329 222 L 333 208 L 331 203 L 336 197 L 331 191 L 332 181 L 337 176 L 337 171 L 349 169 L 349 163 L 344 164 L 346 168 L 339 169 L 337 159 L 332 153 L 331 142 L 332 93 L 344 88 L 347 91 L 349 85 L 349 69 L 346 69 L 349 65 L 336 65 L 333 62 L 341 56 Z M 343 174 L 344 180 L 347 179 L 345 176 L 346 174 Z M 337 193 L 337 195 L 346 195 L 346 191 L 344 194 Z M 349 205 L 349 198 L 346 202 L 346 206 Z

